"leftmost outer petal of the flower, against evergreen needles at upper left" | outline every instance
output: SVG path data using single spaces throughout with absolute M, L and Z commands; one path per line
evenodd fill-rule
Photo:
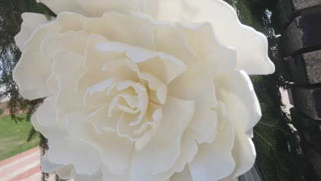
M 55 34 L 60 29 L 56 21 L 45 23 L 37 27 L 25 43 L 26 49 L 14 67 L 12 76 L 19 86 L 19 92 L 26 99 L 38 99 L 50 95 L 47 79 L 51 75 L 52 61 L 49 56 L 40 53 L 40 44 L 46 36 Z M 34 69 L 35 65 L 41 69 Z

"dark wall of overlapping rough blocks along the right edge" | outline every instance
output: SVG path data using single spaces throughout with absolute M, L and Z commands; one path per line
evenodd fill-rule
M 279 0 L 281 54 L 288 62 L 293 86 L 294 127 L 302 152 L 321 180 L 321 0 Z

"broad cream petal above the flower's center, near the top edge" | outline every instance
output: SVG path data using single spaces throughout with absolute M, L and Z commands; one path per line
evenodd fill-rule
M 110 41 L 145 49 L 154 49 L 152 22 L 139 16 L 126 16 L 118 12 L 106 12 L 100 18 L 87 19 L 83 29 L 91 34 L 105 36 Z M 130 31 L 128 31 L 129 29 Z

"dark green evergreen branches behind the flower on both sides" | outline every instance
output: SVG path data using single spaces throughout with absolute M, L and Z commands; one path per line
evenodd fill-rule
M 54 1 L 54 0 L 53 0 Z M 289 76 L 278 53 L 278 38 L 274 36 L 278 27 L 274 21 L 277 0 L 226 0 L 232 5 L 242 23 L 250 25 L 268 37 L 270 58 L 276 64 L 273 75 L 252 76 L 252 82 L 261 103 L 263 117 L 254 128 L 254 144 L 257 148 L 257 166 L 264 181 L 303 181 L 307 180 L 307 163 L 300 153 L 296 130 L 290 126 L 289 115 L 283 111 L 280 88 L 287 88 Z M 28 101 L 19 95 L 12 80 L 12 69 L 18 62 L 21 52 L 14 44 L 14 36 L 20 31 L 23 12 L 46 14 L 48 19 L 54 16 L 45 5 L 35 0 L 0 0 L 0 100 L 10 97 L 8 107 L 14 121 L 23 121 L 16 115 L 26 112 L 29 121 L 33 112 L 43 99 Z M 251 48 L 251 47 L 248 47 Z M 30 70 L 32 71 L 32 70 Z M 2 72 L 2 73 L 1 73 Z M 48 149 L 47 139 L 30 130 L 27 141 L 40 136 L 42 154 Z M 43 173 L 42 180 L 49 174 Z M 56 177 L 56 180 L 60 178 Z

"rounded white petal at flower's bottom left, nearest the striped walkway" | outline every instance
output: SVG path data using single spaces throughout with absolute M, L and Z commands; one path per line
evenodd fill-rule
M 73 165 L 79 174 L 93 175 L 102 164 L 99 151 L 88 143 L 71 136 L 49 145 L 47 155 L 50 162 Z

